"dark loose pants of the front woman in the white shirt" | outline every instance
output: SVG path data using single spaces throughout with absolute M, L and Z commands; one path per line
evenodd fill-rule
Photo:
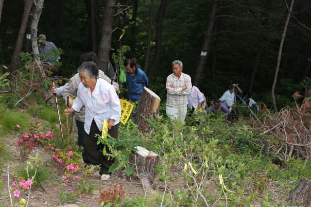
M 111 127 L 111 129 L 108 130 L 108 134 L 118 140 L 118 130 L 119 123 Z M 108 174 L 108 170 L 110 166 L 115 162 L 115 159 L 110 158 L 108 160 L 108 156 L 103 155 L 104 144 L 97 144 L 98 137 L 95 137 L 95 134 L 102 135 L 102 131 L 98 129 L 96 122 L 93 120 L 89 134 L 84 132 L 83 146 L 86 152 L 86 159 L 89 163 L 93 165 L 102 164 L 99 171 L 100 175 Z M 106 147 L 106 153 L 110 153 L 108 147 Z

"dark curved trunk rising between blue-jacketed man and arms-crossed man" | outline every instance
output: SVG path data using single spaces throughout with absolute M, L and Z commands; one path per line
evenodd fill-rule
M 161 49 L 162 49 L 162 25 L 163 25 L 163 18 L 165 14 L 167 0 L 161 0 L 159 14 L 157 17 L 156 27 L 155 27 L 155 55 L 152 60 L 151 67 L 148 71 L 148 79 L 149 81 L 154 76 L 155 70 L 159 64 Z

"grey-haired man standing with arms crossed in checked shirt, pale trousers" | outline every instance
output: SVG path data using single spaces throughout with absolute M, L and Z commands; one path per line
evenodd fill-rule
M 191 78 L 181 72 L 183 70 L 181 61 L 173 61 L 172 66 L 173 73 L 166 79 L 166 114 L 171 120 L 176 118 L 179 122 L 184 122 L 187 115 L 188 95 L 192 89 Z

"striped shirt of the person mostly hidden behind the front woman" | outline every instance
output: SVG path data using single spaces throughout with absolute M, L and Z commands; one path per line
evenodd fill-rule
M 104 74 L 102 70 L 99 70 L 99 78 L 104 79 L 107 81 L 109 84 L 111 84 L 111 80 Z M 64 90 L 63 97 L 65 99 L 65 103 L 67 104 L 67 96 L 69 96 L 69 102 L 72 102 L 72 97 L 77 96 L 77 91 L 79 88 L 79 84 L 81 83 L 79 73 L 75 74 L 72 78 L 70 78 L 67 87 Z M 116 82 L 112 82 L 112 86 L 115 91 L 119 90 L 119 85 Z M 86 114 L 86 109 L 83 106 L 83 108 L 79 111 L 75 111 L 75 118 L 78 121 L 85 121 L 85 114 Z

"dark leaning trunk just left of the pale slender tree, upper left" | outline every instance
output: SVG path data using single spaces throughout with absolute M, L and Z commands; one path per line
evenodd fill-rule
M 23 46 L 23 40 L 26 32 L 26 26 L 27 26 L 27 21 L 29 17 L 29 13 L 31 10 L 31 7 L 33 6 L 33 0 L 25 0 L 25 5 L 24 5 L 24 13 L 23 13 L 23 18 L 21 20 L 21 25 L 19 28 L 19 33 L 17 36 L 17 42 L 15 46 L 15 50 L 13 52 L 11 64 L 10 64 L 10 76 L 9 78 L 12 78 L 17 70 L 18 67 L 18 62 L 19 62 L 19 54 L 21 52 L 21 48 Z

